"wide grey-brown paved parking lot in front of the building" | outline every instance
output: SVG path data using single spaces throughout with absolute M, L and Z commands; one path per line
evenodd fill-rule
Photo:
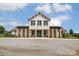
M 75 56 L 78 52 L 78 39 L 0 39 L 1 56 Z

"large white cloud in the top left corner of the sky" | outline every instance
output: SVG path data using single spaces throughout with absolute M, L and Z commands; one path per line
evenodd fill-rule
M 1 11 L 16 11 L 17 9 L 22 9 L 28 4 L 24 3 L 0 3 Z

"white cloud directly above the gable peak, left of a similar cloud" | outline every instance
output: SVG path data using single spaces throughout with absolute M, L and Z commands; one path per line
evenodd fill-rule
M 37 6 L 36 7 L 36 9 L 35 9 L 36 11 L 44 11 L 44 12 L 46 12 L 46 13 L 51 13 L 52 12 L 52 10 L 51 10 L 51 5 L 50 4 L 45 4 L 45 5 L 43 5 L 43 6 Z

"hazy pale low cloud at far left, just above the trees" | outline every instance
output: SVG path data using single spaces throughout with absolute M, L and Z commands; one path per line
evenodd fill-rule
M 11 30 L 16 26 L 24 25 L 20 21 L 11 18 L 0 17 L 0 26 L 4 26 L 6 30 Z

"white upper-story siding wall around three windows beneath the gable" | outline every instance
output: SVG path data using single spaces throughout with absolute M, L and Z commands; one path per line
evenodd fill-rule
M 35 26 L 31 26 L 31 20 L 35 20 Z M 29 21 L 29 29 L 49 29 L 49 22 L 48 22 L 48 26 L 44 26 L 44 20 L 48 20 L 46 18 L 44 18 L 41 15 L 37 15 L 35 18 L 31 19 Z M 42 25 L 41 26 L 37 26 L 37 20 L 41 20 L 42 21 Z M 49 20 L 48 20 L 49 21 Z

